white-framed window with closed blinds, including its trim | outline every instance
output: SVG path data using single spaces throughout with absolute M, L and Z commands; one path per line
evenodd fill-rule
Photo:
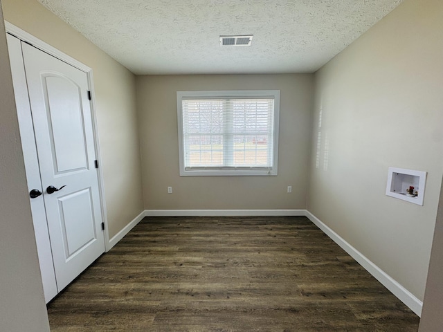
M 181 176 L 277 175 L 280 91 L 177 91 Z

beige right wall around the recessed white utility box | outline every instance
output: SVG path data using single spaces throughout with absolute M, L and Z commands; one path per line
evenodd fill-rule
M 405 0 L 315 77 L 308 210 L 420 300 L 443 171 L 442 17 L 440 0 Z M 424 206 L 385 195 L 390 166 L 428 172 Z

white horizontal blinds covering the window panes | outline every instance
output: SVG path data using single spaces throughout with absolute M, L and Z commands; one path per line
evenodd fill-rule
M 274 98 L 183 98 L 185 169 L 273 167 Z

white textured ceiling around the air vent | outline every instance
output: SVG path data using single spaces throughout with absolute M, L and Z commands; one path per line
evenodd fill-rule
M 314 72 L 402 0 L 38 1 L 133 73 L 205 74 Z

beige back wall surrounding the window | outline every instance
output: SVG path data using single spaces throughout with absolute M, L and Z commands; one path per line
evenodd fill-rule
M 254 89 L 280 90 L 278 176 L 180 177 L 177 91 Z M 311 100 L 307 74 L 137 77 L 145 208 L 305 209 Z

